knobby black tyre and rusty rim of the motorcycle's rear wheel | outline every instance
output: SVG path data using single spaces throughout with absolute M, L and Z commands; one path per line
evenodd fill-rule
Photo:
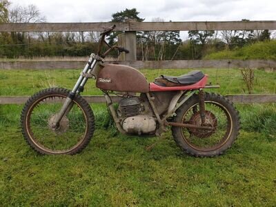
M 226 130 L 227 136 L 225 136 L 226 137 L 225 140 L 221 141 L 221 145 L 218 144 L 218 146 L 210 147 L 210 150 L 208 150 L 208 148 L 196 147 L 195 145 L 191 144 L 187 138 L 189 136 L 189 133 L 194 133 L 194 135 L 197 135 L 197 138 L 201 140 L 208 139 L 208 135 L 206 136 L 204 135 L 204 133 L 200 134 L 199 130 L 190 130 L 187 128 L 173 126 L 172 136 L 174 137 L 177 145 L 182 150 L 184 150 L 184 152 L 188 153 L 189 155 L 193 155 L 195 157 L 215 157 L 217 155 L 222 155 L 228 148 L 230 148 L 230 146 L 232 146 L 233 142 L 239 135 L 239 128 L 240 128 L 239 113 L 233 106 L 233 103 L 221 95 L 217 95 L 215 93 L 208 93 L 208 92 L 205 92 L 205 101 L 222 108 L 221 110 L 223 111 L 222 113 L 225 113 L 228 116 L 227 122 L 229 127 Z M 193 97 L 190 97 L 190 99 L 188 99 L 188 101 L 186 101 L 186 103 L 184 103 L 176 111 L 177 116 L 174 117 L 173 121 L 182 123 L 184 121 L 184 117 L 188 114 L 188 111 L 192 111 L 193 108 L 195 108 L 195 106 L 198 106 L 197 105 L 198 103 L 199 103 L 198 95 L 193 95 Z M 215 124 L 219 126 L 219 123 L 218 123 L 219 119 L 216 118 L 215 120 L 218 120 L 216 121 Z M 184 130 L 186 130 L 186 135 L 184 135 Z M 210 132 L 210 136 L 212 136 L 211 134 L 212 132 Z

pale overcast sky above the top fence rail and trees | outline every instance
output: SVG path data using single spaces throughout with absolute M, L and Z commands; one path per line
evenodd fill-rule
M 137 8 L 145 21 L 276 20 L 275 0 L 10 0 L 12 5 L 36 5 L 48 22 L 110 21 L 111 14 Z

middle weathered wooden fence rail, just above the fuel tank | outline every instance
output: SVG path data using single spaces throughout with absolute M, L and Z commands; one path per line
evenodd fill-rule
M 181 69 L 181 68 L 276 68 L 274 60 L 175 60 L 175 61 L 106 61 L 132 66 L 137 69 Z M 86 61 L 2 61 L 0 68 L 10 69 L 76 69 L 83 68 Z

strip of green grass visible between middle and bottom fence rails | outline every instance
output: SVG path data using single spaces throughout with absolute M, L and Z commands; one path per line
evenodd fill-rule
M 190 69 L 191 70 L 191 69 Z M 153 81 L 159 75 L 183 75 L 190 70 L 141 70 L 148 81 Z M 43 88 L 59 86 L 72 88 L 77 81 L 81 70 L 2 70 L 0 72 L 0 95 L 32 95 Z M 239 70 L 235 69 L 206 69 L 209 75 L 208 82 L 219 83 L 221 88 L 212 90 L 223 95 L 246 94 L 246 85 Z M 95 81 L 86 83 L 83 95 L 102 95 L 101 90 L 95 87 Z M 276 73 L 255 70 L 253 93 L 275 93 Z

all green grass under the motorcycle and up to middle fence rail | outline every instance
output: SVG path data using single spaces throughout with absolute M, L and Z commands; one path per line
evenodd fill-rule
M 189 70 L 142 70 L 152 81 Z M 0 95 L 72 88 L 79 70 L 3 70 Z M 239 70 L 206 70 L 217 92 L 243 94 Z M 276 74 L 255 71 L 254 93 L 275 93 Z M 86 95 L 100 95 L 92 81 Z M 276 105 L 238 105 L 242 131 L 225 155 L 190 157 L 170 132 L 159 140 L 118 135 L 104 126 L 104 104 L 92 104 L 95 136 L 79 155 L 41 156 L 23 140 L 21 105 L 0 105 L 0 206 L 275 206 Z

